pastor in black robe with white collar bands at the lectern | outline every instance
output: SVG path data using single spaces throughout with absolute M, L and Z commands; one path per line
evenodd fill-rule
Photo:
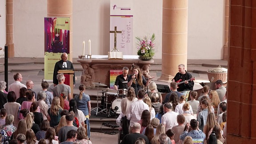
M 74 67 L 71 61 L 68 60 L 68 54 L 66 52 L 63 52 L 62 55 L 60 56 L 61 60 L 57 61 L 55 66 L 54 66 L 54 71 L 53 71 L 53 84 L 57 85 L 58 80 L 57 80 L 57 74 L 59 70 L 65 70 L 65 69 L 71 69 L 74 71 Z M 75 73 L 73 76 L 73 84 L 75 85 Z

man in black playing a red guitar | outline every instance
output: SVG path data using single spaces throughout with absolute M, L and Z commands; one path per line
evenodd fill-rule
M 190 73 L 185 70 L 184 64 L 179 64 L 178 66 L 179 72 L 172 79 L 173 82 L 183 82 L 182 84 L 178 84 L 177 91 L 190 91 L 193 90 L 194 81 L 195 80 Z

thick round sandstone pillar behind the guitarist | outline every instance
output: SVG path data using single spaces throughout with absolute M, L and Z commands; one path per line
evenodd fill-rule
M 163 0 L 162 75 L 160 81 L 171 82 L 178 65 L 187 69 L 188 0 Z

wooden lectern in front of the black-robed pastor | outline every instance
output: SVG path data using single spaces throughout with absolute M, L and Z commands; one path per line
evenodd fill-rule
M 66 70 L 59 70 L 58 71 L 58 74 L 59 73 L 63 73 L 64 76 L 65 76 L 65 81 L 64 81 L 64 84 L 67 84 L 70 86 L 71 88 L 71 96 L 73 98 L 73 76 L 74 76 L 74 71 L 72 69 L 66 69 Z

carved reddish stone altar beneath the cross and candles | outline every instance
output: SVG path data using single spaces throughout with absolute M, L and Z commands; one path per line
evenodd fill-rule
M 150 66 L 154 60 L 140 60 L 138 58 L 128 58 L 123 60 L 108 60 L 108 58 L 92 58 L 77 60 L 83 67 L 83 73 L 81 76 L 81 84 L 85 84 L 87 87 L 94 87 L 93 83 L 110 85 L 110 70 L 122 70 L 123 67 L 128 67 L 129 75 L 133 72 L 131 70 L 132 64 L 142 68 L 144 65 Z

